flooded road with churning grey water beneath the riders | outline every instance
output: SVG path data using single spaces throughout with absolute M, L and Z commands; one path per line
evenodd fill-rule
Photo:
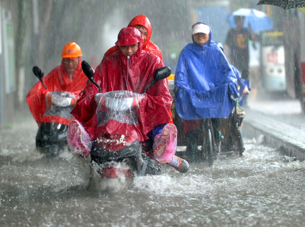
M 35 150 L 37 126 L 0 131 L 0 226 L 303 226 L 305 162 L 245 139 L 243 158 L 165 167 L 101 193 L 87 161 Z

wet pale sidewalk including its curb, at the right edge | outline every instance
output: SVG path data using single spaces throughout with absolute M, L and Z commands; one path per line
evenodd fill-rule
M 285 93 L 263 92 L 245 107 L 242 133 L 246 137 L 264 135 L 264 144 L 288 156 L 305 159 L 305 115 L 298 100 Z

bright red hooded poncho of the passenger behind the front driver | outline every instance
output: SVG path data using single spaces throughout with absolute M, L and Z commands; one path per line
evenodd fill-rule
M 156 54 L 162 60 L 161 50 L 159 49 L 159 47 L 156 44 L 154 44 L 153 42 L 150 41 L 150 37 L 151 37 L 151 33 L 153 32 L 153 29 L 151 29 L 151 25 L 150 25 L 148 18 L 145 15 L 135 16 L 129 22 L 128 27 L 134 27 L 136 25 L 142 25 L 147 30 L 147 37 L 146 37 L 145 43 L 142 46 L 142 50 L 145 50 L 149 53 Z M 107 50 L 107 52 L 104 54 L 104 57 L 109 54 L 112 54 L 113 52 L 116 52 L 116 51 L 118 51 L 117 46 L 113 46 L 109 50 Z

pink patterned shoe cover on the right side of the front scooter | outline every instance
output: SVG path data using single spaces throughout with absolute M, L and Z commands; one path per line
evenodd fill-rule
M 161 163 L 170 163 L 174 157 L 177 147 L 177 128 L 174 124 L 167 124 L 162 133 L 155 136 L 153 154 L 155 159 Z

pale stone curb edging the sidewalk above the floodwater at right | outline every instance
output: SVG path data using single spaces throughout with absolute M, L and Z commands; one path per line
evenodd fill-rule
M 305 159 L 305 133 L 301 129 L 253 110 L 246 111 L 242 136 L 256 138 L 260 135 L 264 136 L 265 145 L 276 147 L 300 161 Z

